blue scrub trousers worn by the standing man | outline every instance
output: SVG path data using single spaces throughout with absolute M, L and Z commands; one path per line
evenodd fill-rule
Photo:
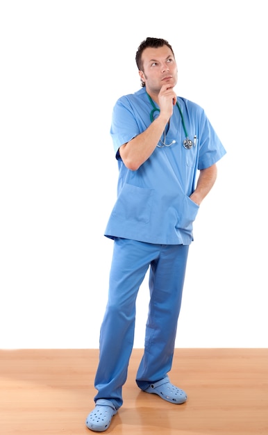
M 122 406 L 122 386 L 133 350 L 135 302 L 149 267 L 149 313 L 137 386 L 146 390 L 171 370 L 188 249 L 115 239 L 108 304 L 100 332 L 95 402 L 106 399 L 116 409 Z

